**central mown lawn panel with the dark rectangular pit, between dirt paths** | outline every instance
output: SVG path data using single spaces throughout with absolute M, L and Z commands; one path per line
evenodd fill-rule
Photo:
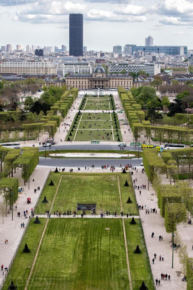
M 117 175 L 63 175 L 53 210 L 73 212 L 77 203 L 96 203 L 96 214 L 104 211 L 120 214 Z

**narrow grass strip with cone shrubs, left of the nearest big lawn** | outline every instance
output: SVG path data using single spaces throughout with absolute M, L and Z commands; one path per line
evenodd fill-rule
M 25 288 L 32 267 L 32 263 L 40 242 L 40 238 L 42 236 L 42 232 L 46 223 L 45 218 L 40 218 L 40 224 L 34 224 L 34 220 L 35 218 L 32 218 L 28 225 L 28 228 L 26 230 L 26 233 L 14 259 L 11 270 L 8 273 L 8 277 L 2 290 L 7 290 L 12 280 L 15 286 L 17 285 L 17 289 L 24 290 Z M 30 253 L 22 252 L 25 243 L 27 243 L 27 246 L 30 249 Z

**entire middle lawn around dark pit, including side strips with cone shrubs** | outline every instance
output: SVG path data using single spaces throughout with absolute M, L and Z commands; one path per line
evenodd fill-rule
M 67 210 L 73 212 L 73 210 L 76 210 L 77 203 L 96 203 L 96 214 L 100 214 L 107 210 L 110 211 L 111 214 L 115 211 L 117 211 L 117 214 L 120 214 L 120 196 L 117 180 L 117 177 L 119 177 L 124 214 L 127 214 L 127 212 L 131 212 L 132 215 L 139 214 L 129 173 L 69 174 L 54 172 L 52 172 L 48 178 L 35 209 L 36 214 L 45 214 L 45 211 L 50 210 L 61 175 L 63 175 L 63 177 L 55 198 L 52 213 L 53 211 L 56 212 L 56 210 L 61 212 L 61 214 L 67 212 Z M 51 179 L 54 186 L 49 186 Z M 126 180 L 129 183 L 128 187 L 124 186 Z M 48 203 L 42 203 L 44 196 L 46 196 Z M 132 201 L 131 204 L 126 203 L 129 196 Z M 91 214 L 91 212 L 87 212 L 87 214 Z

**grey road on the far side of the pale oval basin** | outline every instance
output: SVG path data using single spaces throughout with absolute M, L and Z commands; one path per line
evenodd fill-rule
M 61 150 L 61 149 L 64 149 L 64 150 L 120 150 L 120 147 L 117 146 L 117 145 L 95 145 L 95 144 L 86 144 L 86 145 L 56 145 L 56 146 L 51 146 L 49 148 L 46 147 L 46 150 Z M 124 150 L 133 150 L 135 151 L 135 146 L 126 146 L 124 147 Z M 39 147 L 39 151 L 45 151 L 45 147 L 43 146 L 40 146 Z M 120 150 L 121 151 L 121 150 Z M 136 146 L 136 151 L 138 151 L 138 146 Z M 139 147 L 139 151 L 142 151 L 141 150 L 141 147 Z M 121 151 L 122 152 L 122 151 Z

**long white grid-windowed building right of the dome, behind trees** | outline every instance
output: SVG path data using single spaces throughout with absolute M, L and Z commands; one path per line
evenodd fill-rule
M 139 70 L 144 70 L 149 75 L 157 75 L 161 72 L 161 65 L 157 63 L 111 63 L 110 72 L 121 72 L 126 70 L 126 72 L 139 72 Z

